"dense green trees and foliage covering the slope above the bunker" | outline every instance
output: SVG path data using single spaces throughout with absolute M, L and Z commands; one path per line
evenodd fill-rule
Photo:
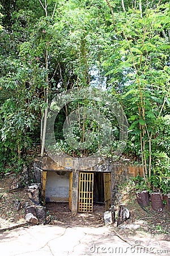
M 75 87 L 104 89 L 124 109 L 129 138 L 124 154 L 138 159 L 145 183 L 167 188 L 170 167 L 169 38 L 166 0 L 1 0 L 0 168 L 19 170 L 41 143 L 41 117 L 56 94 Z M 97 105 L 98 104 L 98 105 Z M 119 138 L 109 109 L 91 100 L 66 105 L 56 119 L 57 145 L 66 154 L 91 155 L 100 127 L 82 119 L 73 137 L 94 143 L 71 147 L 66 116 L 93 105 L 111 119 L 114 155 Z M 44 148 L 41 150 L 41 155 Z M 162 186 L 162 187 L 161 187 Z

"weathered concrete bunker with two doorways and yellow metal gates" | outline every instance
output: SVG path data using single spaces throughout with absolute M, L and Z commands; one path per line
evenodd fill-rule
M 73 213 L 93 212 L 94 203 L 104 204 L 108 210 L 116 199 L 118 184 L 142 175 L 141 167 L 111 159 L 86 170 L 74 170 L 44 157 L 36 159 L 34 167 L 44 205 L 67 202 Z

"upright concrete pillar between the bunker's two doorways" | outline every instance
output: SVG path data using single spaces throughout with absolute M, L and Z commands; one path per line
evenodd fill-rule
M 71 212 L 78 212 L 78 189 L 79 189 L 79 171 L 73 170 L 73 188 L 72 188 L 72 207 Z

